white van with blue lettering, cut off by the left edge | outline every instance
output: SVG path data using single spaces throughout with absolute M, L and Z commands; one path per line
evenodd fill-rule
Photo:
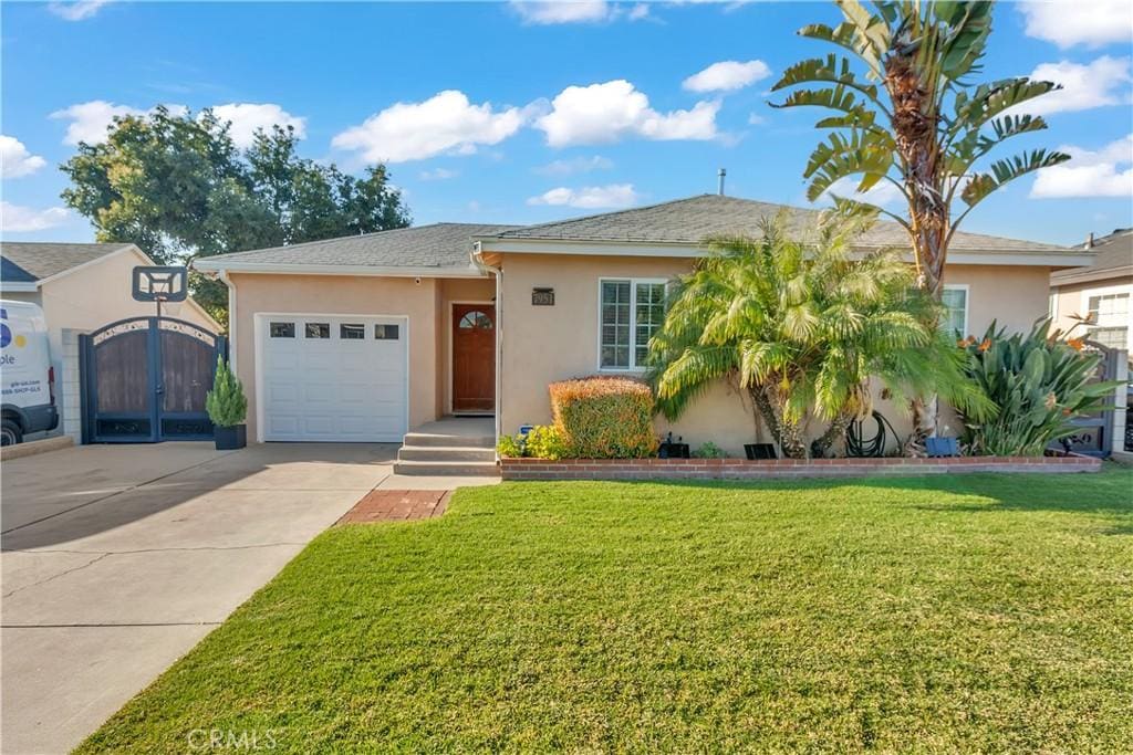
M 5 446 L 25 435 L 54 430 L 56 370 L 51 367 L 43 310 L 26 301 L 0 300 L 0 393 Z

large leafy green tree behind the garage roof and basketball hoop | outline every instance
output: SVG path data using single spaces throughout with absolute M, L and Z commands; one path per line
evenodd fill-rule
M 99 241 L 129 241 L 162 264 L 409 224 L 384 165 L 361 178 L 299 157 L 291 127 L 239 149 L 210 110 L 118 118 L 101 144 L 62 165 L 68 205 Z M 224 286 L 194 275 L 196 299 L 221 318 Z

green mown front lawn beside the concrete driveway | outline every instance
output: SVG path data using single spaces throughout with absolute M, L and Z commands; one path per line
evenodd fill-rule
M 316 539 L 80 747 L 1133 750 L 1133 472 L 508 483 Z

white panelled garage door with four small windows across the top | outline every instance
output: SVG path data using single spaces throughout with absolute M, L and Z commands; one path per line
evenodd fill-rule
M 264 440 L 401 441 L 404 318 L 257 315 L 256 328 Z

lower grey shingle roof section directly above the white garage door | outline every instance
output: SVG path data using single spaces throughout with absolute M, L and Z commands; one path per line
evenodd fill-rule
M 358 267 L 470 267 L 474 235 L 494 235 L 514 225 L 436 223 L 363 235 L 292 243 L 287 247 L 235 251 L 198 263 L 340 265 Z

